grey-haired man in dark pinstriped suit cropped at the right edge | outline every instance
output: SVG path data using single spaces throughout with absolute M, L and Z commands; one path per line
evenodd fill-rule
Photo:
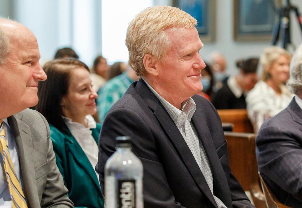
M 259 171 L 277 199 L 302 207 L 302 45 L 290 64 L 288 86 L 296 96 L 264 122 L 256 138 Z

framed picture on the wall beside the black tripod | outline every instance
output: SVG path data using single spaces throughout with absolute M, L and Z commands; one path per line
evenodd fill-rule
M 270 40 L 279 0 L 234 0 L 234 39 Z

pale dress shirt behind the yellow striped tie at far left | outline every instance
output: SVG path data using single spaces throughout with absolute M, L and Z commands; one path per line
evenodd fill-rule
M 7 118 L 3 119 L 4 122 L 4 129 L 5 129 L 5 140 L 8 144 L 8 152 L 12 159 L 15 173 L 17 175 L 17 178 L 20 182 L 20 185 L 22 187 L 22 190 L 24 192 L 24 185 L 23 185 L 23 179 L 22 174 L 20 174 L 20 164 L 19 164 L 19 156 L 18 156 L 18 149 L 15 142 L 14 135 L 12 133 L 12 130 L 10 126 L 8 125 Z M 3 167 L 3 160 L 0 159 L 1 168 L 0 168 L 0 207 L 2 208 L 11 208 L 12 207 L 12 201 L 10 198 L 10 193 L 8 189 L 8 183 L 5 176 L 5 171 Z

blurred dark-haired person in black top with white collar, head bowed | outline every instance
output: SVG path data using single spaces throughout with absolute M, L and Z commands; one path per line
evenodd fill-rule
M 237 61 L 239 74 L 230 76 L 212 99 L 216 109 L 246 109 L 246 93 L 253 89 L 258 81 L 258 63 L 259 58 Z

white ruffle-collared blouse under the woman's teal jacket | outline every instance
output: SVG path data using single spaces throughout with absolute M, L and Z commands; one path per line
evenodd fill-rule
M 84 153 L 86 154 L 89 162 L 91 163 L 94 169 L 95 165 L 98 162 L 98 144 L 95 142 L 94 138 L 92 137 L 92 131 L 90 130 L 91 128 L 97 127 L 94 118 L 91 115 L 87 115 L 85 117 L 85 122 L 87 123 L 88 127 L 85 127 L 81 123 L 71 121 L 70 118 L 64 116 L 62 117 L 65 124 L 69 128 L 72 136 L 74 136 L 76 141 L 79 143 L 80 147 L 83 149 Z

